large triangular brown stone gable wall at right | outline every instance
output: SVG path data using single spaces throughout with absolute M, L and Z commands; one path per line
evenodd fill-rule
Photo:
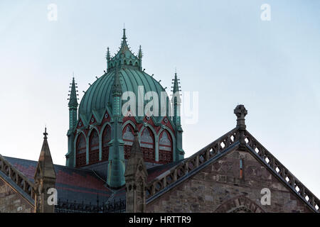
M 270 205 L 261 204 L 263 188 L 270 189 Z M 235 150 L 151 201 L 146 211 L 291 213 L 311 209 L 253 155 Z

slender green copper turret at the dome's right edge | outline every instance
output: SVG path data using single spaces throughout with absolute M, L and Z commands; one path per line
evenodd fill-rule
M 174 74 L 173 80 L 173 94 L 171 99 L 172 110 L 174 111 L 172 121 L 176 126 L 176 160 L 181 160 L 184 158 L 184 151 L 182 149 L 182 133 L 181 128 L 181 97 L 180 97 L 180 84 L 177 74 Z

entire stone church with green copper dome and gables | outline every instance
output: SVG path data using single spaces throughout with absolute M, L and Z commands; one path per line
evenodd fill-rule
M 70 84 L 65 165 L 53 164 L 46 130 L 38 161 L 0 155 L 1 213 L 319 213 L 320 200 L 247 131 L 245 106 L 235 128 L 184 157 L 177 74 L 168 94 L 125 29 L 106 60 L 80 104 Z

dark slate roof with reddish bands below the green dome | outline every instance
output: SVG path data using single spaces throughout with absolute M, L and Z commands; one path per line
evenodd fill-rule
M 38 162 L 33 160 L 24 160 L 16 157 L 4 157 L 16 169 L 23 173 L 31 182 L 34 183 L 34 173 Z M 148 182 L 155 177 L 166 172 L 178 162 L 171 162 L 166 165 L 152 167 L 148 172 Z M 107 165 L 107 164 L 106 164 Z M 105 179 L 102 179 L 97 172 L 88 169 L 79 169 L 66 167 L 63 165 L 54 165 L 56 182 L 55 187 L 58 190 L 58 199 L 84 204 L 97 204 L 109 201 L 119 201 L 125 199 L 125 188 L 113 190 L 107 187 Z

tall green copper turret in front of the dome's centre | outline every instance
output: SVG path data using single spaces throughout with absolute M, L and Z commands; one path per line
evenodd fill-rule
M 110 153 L 108 163 L 107 184 L 112 188 L 119 188 L 124 185 L 124 142 L 122 140 L 122 88 L 119 79 L 119 70 L 114 72 L 112 84 L 112 120 Z

